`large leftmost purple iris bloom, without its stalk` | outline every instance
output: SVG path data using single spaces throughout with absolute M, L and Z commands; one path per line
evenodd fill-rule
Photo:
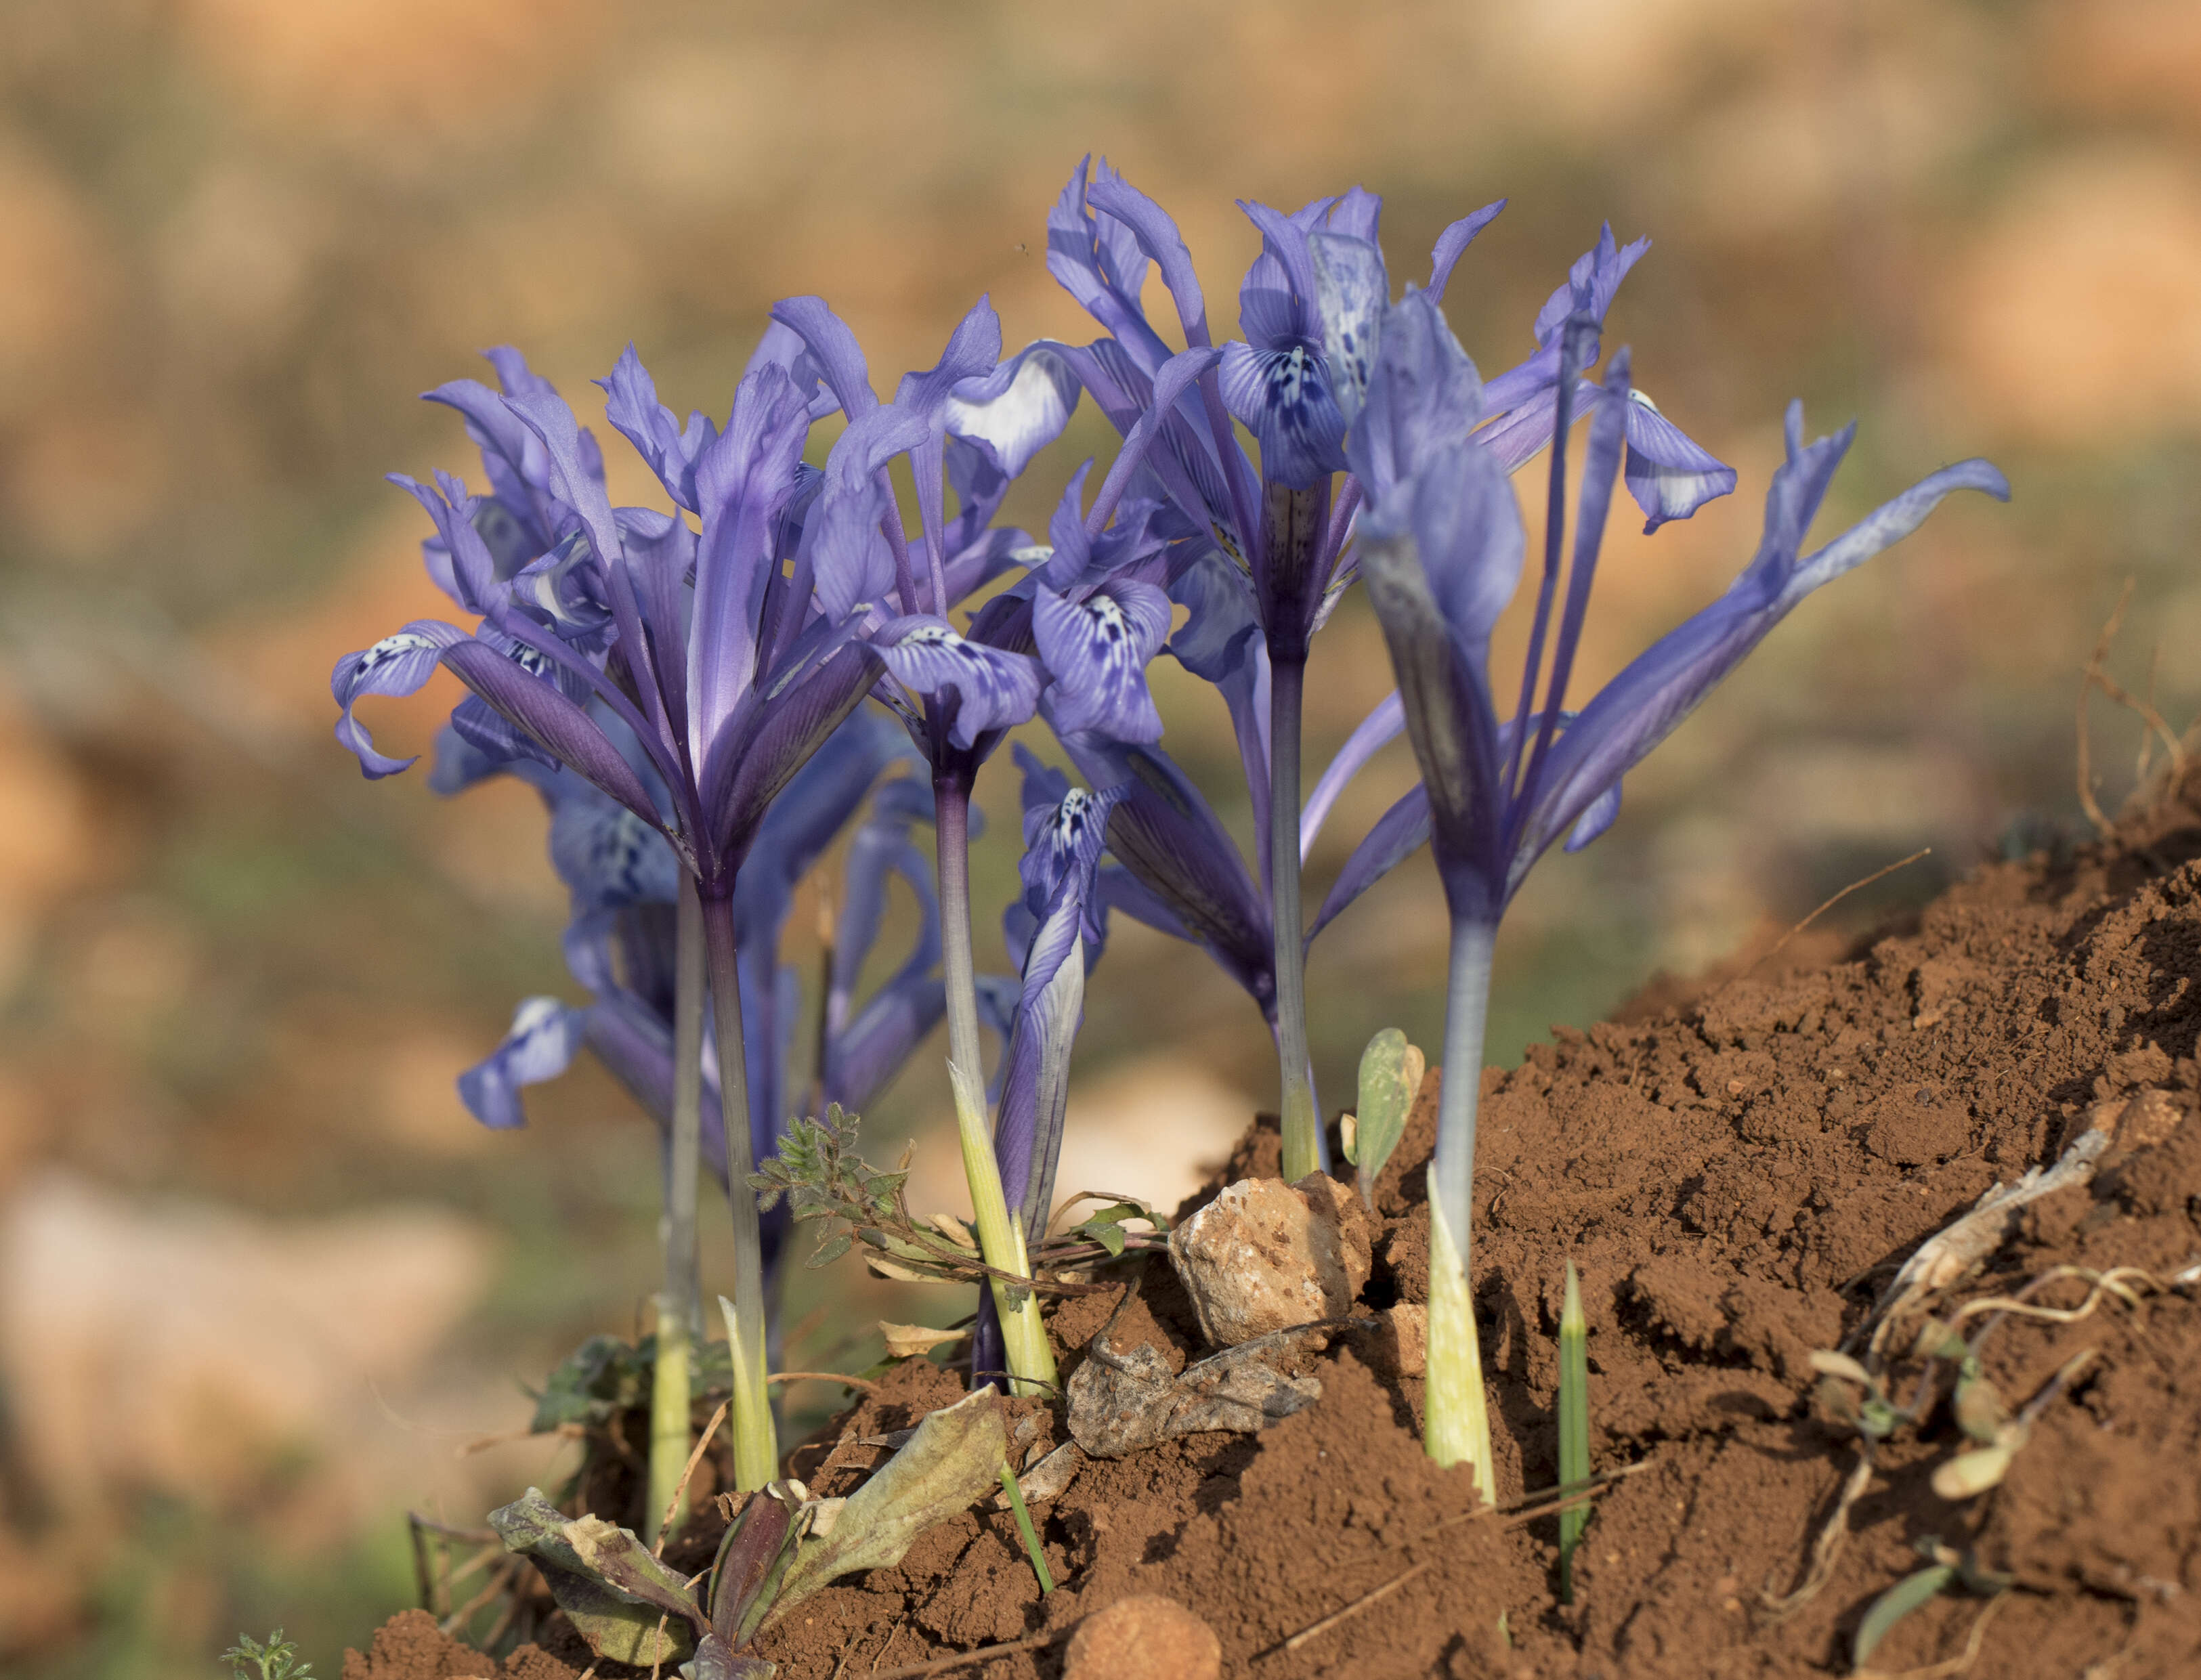
M 647 390 L 632 352 L 610 383 L 614 423 L 632 423 Z M 502 396 L 471 381 L 434 396 L 467 414 L 493 495 L 471 498 L 453 478 L 407 489 L 438 526 L 431 570 L 482 625 L 420 621 L 348 654 L 332 676 L 339 738 L 368 775 L 405 768 L 372 749 L 352 709 L 418 689 L 442 663 L 480 700 L 453 716 L 462 735 L 574 771 L 663 828 L 702 898 L 724 903 L 773 797 L 876 674 L 856 628 L 814 610 L 808 588 L 797 594 L 799 553 L 784 553 L 812 491 L 808 399 L 759 357 L 724 432 L 689 425 L 693 460 L 645 449 L 667 493 L 700 504 L 698 535 L 678 515 L 612 509 L 601 451 L 548 383 L 508 374 Z M 484 531 L 506 555 L 546 550 L 511 570 Z M 625 727 L 638 764 L 592 711 Z

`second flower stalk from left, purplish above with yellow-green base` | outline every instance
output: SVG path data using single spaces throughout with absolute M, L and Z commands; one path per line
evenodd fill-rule
M 733 901 L 702 901 L 704 958 L 711 978 L 711 1008 L 718 1035 L 718 1101 L 726 1116 L 726 1182 L 733 1209 L 733 1299 L 718 1297 L 726 1317 L 726 1348 L 733 1361 L 733 1486 L 753 1493 L 779 1475 L 779 1425 L 766 1387 L 764 1354 L 764 1229 L 748 1176 L 757 1169 L 748 1130 L 748 1057 L 742 1048 L 742 973 L 733 934 Z M 700 1066 L 700 1059 L 698 1059 Z M 685 1425 L 682 1425 L 685 1431 Z M 682 1464 L 674 1469 L 674 1484 Z M 663 1506 L 658 1506 L 663 1510 Z

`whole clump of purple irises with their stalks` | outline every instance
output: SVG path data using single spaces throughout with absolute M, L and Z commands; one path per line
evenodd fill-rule
M 418 621 L 339 661 L 337 735 L 365 775 L 403 771 L 354 707 L 409 694 L 442 665 L 471 698 L 451 713 L 436 786 L 506 773 L 546 799 L 574 896 L 566 958 L 592 1002 L 524 1002 L 462 1092 L 484 1123 L 515 1125 L 519 1088 L 585 1046 L 658 1121 L 667 1237 L 651 1508 L 669 1502 L 691 1444 L 704 1167 L 729 1191 L 735 1235 L 722 1299 L 742 1488 L 779 1473 L 766 1374 L 790 1207 L 845 1222 L 839 1246 L 861 1240 L 977 1284 L 973 1381 L 1045 1392 L 1056 1370 L 1039 1297 L 1061 1286 L 1050 1268 L 1120 1255 L 1134 1215 L 1123 1204 L 1050 1237 L 1070 1055 L 1109 914 L 1202 945 L 1252 997 L 1277 1044 L 1283 1176 L 1299 1180 L 1327 1165 L 1307 945 L 1424 843 L 1450 912 L 1426 1438 L 1433 1458 L 1468 1464 L 1488 1491 L 1468 1213 L 1505 905 L 1552 846 L 1580 850 L 1613 823 L 1627 771 L 1809 592 L 1908 535 L 1950 491 L 2007 493 L 1994 467 L 1961 462 L 1807 548 L 1851 434 L 1807 445 L 1792 407 L 1756 555 L 1726 594 L 1569 709 L 1616 482 L 1646 531 L 1737 487 L 1635 388 L 1629 350 L 1602 352 L 1607 313 L 1649 242 L 1602 229 L 1536 313 L 1534 350 L 1483 379 L 1442 304 L 1503 200 L 1453 222 L 1426 286 L 1398 299 L 1373 194 L 1354 187 L 1292 214 L 1241 209 L 1261 253 L 1239 286 L 1241 337 L 1228 341 L 1169 214 L 1105 163 L 1081 163 L 1048 216 L 1048 266 L 1100 324 L 1092 343 L 1004 357 L 999 319 L 979 299 L 938 363 L 880 401 L 847 324 L 797 297 L 773 310 L 726 421 L 685 425 L 629 348 L 601 381 L 605 418 L 671 513 L 610 504 L 596 438 L 515 352 L 493 354 L 502 390 L 431 392 L 464 416 L 489 487 L 475 493 L 447 473 L 398 482 L 436 524 L 431 575 L 473 623 Z M 1151 271 L 1184 350 L 1145 313 Z M 1072 471 L 1045 542 L 997 524 L 1010 482 L 1085 396 L 1123 438 L 1098 489 L 1087 495 L 1094 462 Z M 812 427 L 832 416 L 845 425 L 812 467 Z M 1527 661 L 1519 691 L 1499 694 L 1490 636 L 1527 559 L 1510 476 L 1545 451 Z M 913 487 L 913 528 L 896 473 Z M 1307 658 L 1354 583 L 1382 625 L 1398 691 L 1303 797 Z M 1250 863 L 1162 746 L 1147 685 L 1160 654 L 1228 707 L 1257 815 Z M 1085 786 L 1017 749 L 1023 861 L 1004 914 L 1017 973 L 979 975 L 973 793 L 1032 722 Z M 1307 850 L 1345 784 L 1400 733 L 1422 779 L 1358 841 L 1310 925 Z M 894 766 L 909 773 L 887 777 Z M 797 883 L 836 848 L 821 1030 L 799 1048 L 801 978 L 779 958 L 781 934 Z M 922 927 L 902 967 L 858 1002 L 894 876 Z M 898 1171 L 858 1163 L 841 1121 L 942 1019 L 975 1251 L 911 1220 Z M 984 1026 L 1001 1041 L 993 1079 Z M 1371 1046 L 1347 1145 L 1365 1182 L 1417 1088 L 1420 1052 L 1402 1037 Z M 814 1114 L 828 1119 L 797 1123 Z M 1034 1264 L 1043 1248 L 1050 1266 Z M 702 1634 L 709 1616 L 687 1612 Z

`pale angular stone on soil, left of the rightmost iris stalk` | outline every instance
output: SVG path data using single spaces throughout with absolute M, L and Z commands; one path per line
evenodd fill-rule
M 1169 1257 L 1206 1339 L 1235 1348 L 1351 1312 L 1369 1281 L 1369 1215 L 1325 1174 L 1241 1178 L 1169 1233 Z

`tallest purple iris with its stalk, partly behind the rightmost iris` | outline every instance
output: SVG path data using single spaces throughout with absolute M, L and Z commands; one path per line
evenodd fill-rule
M 1503 207 L 1503 200 L 1486 205 L 1444 229 L 1431 253 L 1428 297 L 1444 297 L 1461 251 Z M 1373 194 L 1354 187 L 1290 216 L 1257 203 L 1239 209 L 1261 231 L 1261 253 L 1239 288 L 1246 337 L 1224 346 L 1215 343 L 1175 222 L 1107 163 L 1081 163 L 1070 178 L 1048 218 L 1048 266 L 1107 328 L 1103 341 L 1061 354 L 1125 434 L 1118 467 L 1134 460 L 1140 487 L 1151 484 L 1193 528 L 1184 561 L 1171 570 L 1173 597 L 1195 614 L 1175 652 L 1224 689 L 1261 817 L 1270 958 L 1266 978 L 1252 978 L 1250 989 L 1257 997 L 1266 989 L 1272 1000 L 1263 1006 L 1277 1030 L 1285 1174 L 1296 1176 L 1323 1165 L 1327 1154 L 1307 1072 L 1307 936 L 1296 868 L 1310 841 L 1299 795 L 1305 661 L 1314 632 L 1358 575 L 1354 531 L 1367 487 L 1347 460 L 1345 436 L 1380 354 L 1391 295 L 1378 242 L 1382 200 Z M 1550 405 L 1561 381 L 1558 332 L 1576 295 L 1587 297 L 1602 321 L 1644 247 L 1620 247 L 1605 229 L 1574 264 L 1567 286 L 1538 313 L 1536 352 L 1492 381 L 1475 438 L 1508 469 L 1550 436 Z M 1178 310 L 1186 343 L 1178 354 L 1140 304 L 1149 264 L 1160 266 Z M 1233 421 L 1252 432 L 1257 458 L 1239 447 Z M 1686 517 L 1732 489 L 1732 471 L 1653 407 L 1642 407 L 1638 432 L 1629 482 L 1649 498 L 1644 511 L 1653 524 Z M 1233 592 L 1241 599 L 1228 599 Z M 1365 760 L 1384 740 L 1380 731 L 1356 735 L 1354 749 Z M 1362 760 L 1332 766 L 1325 777 L 1332 786 L 1318 801 L 1323 812 Z M 1125 828 L 1140 819 L 1140 804 L 1134 797 L 1120 806 Z M 1175 823 L 1208 826 L 1200 817 Z M 1380 854 L 1382 848 L 1367 857 Z M 1239 868 L 1233 852 L 1208 859 L 1202 872 Z M 1191 876 L 1191 870 L 1180 874 Z M 1171 898 L 1219 903 L 1189 879 L 1145 879 L 1142 885 L 1164 905 Z M 1184 920 L 1182 912 L 1178 918 Z M 1244 925 L 1226 942 L 1206 929 L 1195 936 L 1217 953 L 1246 947 L 1250 956 L 1255 927 L 1235 920 Z M 1259 975 L 1261 964 L 1237 956 L 1226 967 L 1248 978 Z

